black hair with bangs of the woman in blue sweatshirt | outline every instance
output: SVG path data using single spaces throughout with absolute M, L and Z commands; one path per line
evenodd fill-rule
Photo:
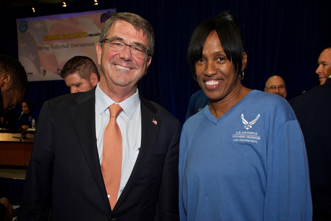
M 241 35 L 237 17 L 229 11 L 221 12 L 218 16 L 201 23 L 193 32 L 187 49 L 190 69 L 195 76 L 195 63 L 202 59 L 202 50 L 208 35 L 216 31 L 226 57 L 235 67 L 237 76 L 242 71 L 244 41 Z

